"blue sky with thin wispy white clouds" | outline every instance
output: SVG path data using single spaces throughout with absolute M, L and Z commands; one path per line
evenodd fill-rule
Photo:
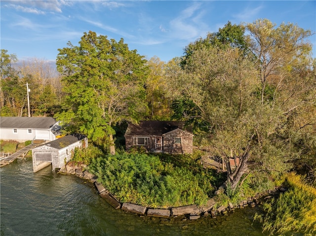
M 56 60 L 58 48 L 77 45 L 84 32 L 119 40 L 147 59 L 169 61 L 228 21 L 267 18 L 316 32 L 316 1 L 1 0 L 0 48 L 18 59 Z M 316 35 L 310 38 L 316 57 Z

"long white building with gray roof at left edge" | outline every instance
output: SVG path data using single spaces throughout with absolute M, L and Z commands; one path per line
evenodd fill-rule
M 60 126 L 52 117 L 0 117 L 0 139 L 16 140 L 55 140 Z

